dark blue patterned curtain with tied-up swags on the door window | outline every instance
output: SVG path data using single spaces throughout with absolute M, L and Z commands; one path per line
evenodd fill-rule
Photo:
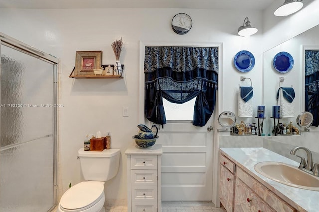
M 193 125 L 205 126 L 215 108 L 218 68 L 218 48 L 145 47 L 146 118 L 164 125 L 162 98 L 181 104 L 196 97 Z

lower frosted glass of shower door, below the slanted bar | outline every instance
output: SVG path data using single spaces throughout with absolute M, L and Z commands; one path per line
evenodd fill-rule
M 54 205 L 52 137 L 1 151 L 1 212 L 46 212 Z

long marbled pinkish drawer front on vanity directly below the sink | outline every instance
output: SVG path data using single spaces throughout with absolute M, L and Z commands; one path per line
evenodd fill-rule
M 291 208 L 286 202 L 284 202 L 277 195 L 268 190 L 265 186 L 260 184 L 257 180 L 255 180 L 255 178 L 248 175 L 241 168 L 236 169 L 236 176 L 240 178 L 249 188 L 251 188 L 251 190 L 255 191 L 261 197 L 261 199 L 267 202 L 276 211 L 295 212 L 295 210 Z

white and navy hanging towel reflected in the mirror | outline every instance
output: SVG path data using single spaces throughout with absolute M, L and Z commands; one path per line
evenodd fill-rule
M 277 91 L 277 104 L 280 105 L 280 114 L 282 118 L 295 117 L 294 106 L 292 104 L 295 98 L 293 88 L 280 87 Z

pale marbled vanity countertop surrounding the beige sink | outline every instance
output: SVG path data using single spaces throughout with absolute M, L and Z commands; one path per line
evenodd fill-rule
M 276 161 L 299 166 L 299 163 L 265 148 L 219 148 L 221 153 L 231 159 L 261 184 L 274 192 L 299 211 L 319 211 L 319 191 L 287 186 L 273 181 L 255 171 L 254 165 L 263 161 Z

